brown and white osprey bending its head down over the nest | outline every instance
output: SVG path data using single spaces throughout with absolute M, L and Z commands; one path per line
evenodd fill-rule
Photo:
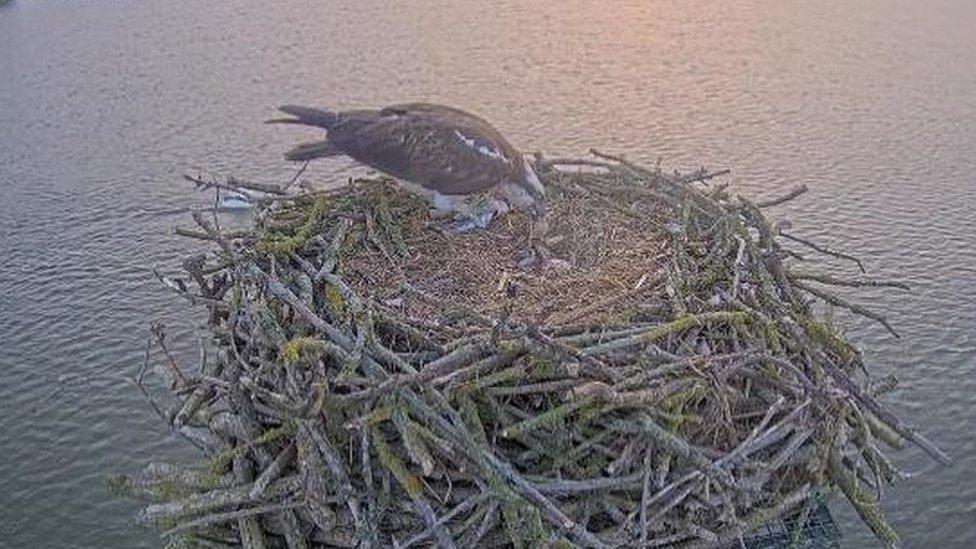
M 344 112 L 279 109 L 291 118 L 268 122 L 326 131 L 325 140 L 298 145 L 287 160 L 349 156 L 400 179 L 430 202 L 435 217 L 453 217 L 452 231 L 487 227 L 511 207 L 530 211 L 536 221 L 545 215 L 545 190 L 529 161 L 491 124 L 461 109 L 429 103 Z

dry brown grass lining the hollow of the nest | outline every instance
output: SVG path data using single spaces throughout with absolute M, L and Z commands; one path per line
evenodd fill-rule
M 343 276 L 362 295 L 428 322 L 443 311 L 416 293 L 402 292 L 401 280 L 491 317 L 510 308 L 512 317 L 533 323 L 580 320 L 574 317 L 581 316 L 576 313 L 585 312 L 584 307 L 632 291 L 638 284 L 651 289 L 657 262 L 663 258 L 660 206 L 646 200 L 626 210 L 611 207 L 587 190 L 607 177 L 590 172 L 545 178 L 550 196 L 548 246 L 569 269 L 519 265 L 529 249 L 529 220 L 524 214 L 505 215 L 487 230 L 449 235 L 431 222 L 417 198 L 391 182 L 352 187 L 345 192 L 366 199 L 358 203 L 391 204 L 394 230 L 402 234 L 406 253 L 396 253 L 384 238 L 390 231 L 377 222 L 372 235 L 360 235 L 359 243 L 368 245 L 350 246 L 343 258 Z M 514 299 L 507 299 L 506 287 L 514 288 Z M 612 308 L 613 314 L 632 315 L 633 301 L 626 310 Z M 601 313 L 582 316 L 608 320 Z

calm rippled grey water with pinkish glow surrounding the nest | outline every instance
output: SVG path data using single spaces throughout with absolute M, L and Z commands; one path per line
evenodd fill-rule
M 206 200 L 179 174 L 282 180 L 299 136 L 260 124 L 274 105 L 408 99 L 525 150 L 731 167 L 755 196 L 808 184 L 784 212 L 798 232 L 912 284 L 858 293 L 900 341 L 845 320 L 957 458 L 886 508 L 907 547 L 976 546 L 976 4 L 732 4 L 0 6 L 0 546 L 158 546 L 104 478 L 191 454 L 126 381 L 153 319 L 192 356 L 193 319 L 150 274 L 186 252 L 169 212 Z M 836 511 L 846 546 L 875 545 Z

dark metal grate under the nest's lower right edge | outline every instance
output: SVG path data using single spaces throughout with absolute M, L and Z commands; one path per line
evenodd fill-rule
M 786 549 L 802 513 L 786 516 L 759 527 L 726 549 Z M 840 530 L 822 503 L 813 503 L 806 524 L 799 531 L 796 549 L 840 549 Z

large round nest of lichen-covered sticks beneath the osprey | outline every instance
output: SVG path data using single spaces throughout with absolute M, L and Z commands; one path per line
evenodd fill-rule
M 163 362 L 162 415 L 201 460 L 117 487 L 170 540 L 245 547 L 722 546 L 835 489 L 897 543 L 882 447 L 948 457 L 816 302 L 890 329 L 826 286 L 903 285 L 798 269 L 784 244 L 850 258 L 763 215 L 802 188 L 757 204 L 704 171 L 536 167 L 562 268 L 520 265 L 518 215 L 445 235 L 382 181 L 261 186 L 248 231 L 196 212 L 180 233 L 213 251 L 159 278 L 209 312 L 196 371 Z

